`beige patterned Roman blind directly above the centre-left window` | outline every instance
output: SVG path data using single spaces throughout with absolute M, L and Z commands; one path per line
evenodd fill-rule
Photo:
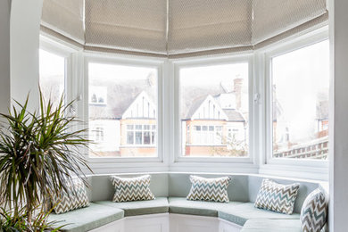
M 86 45 L 166 54 L 163 0 L 86 0 Z

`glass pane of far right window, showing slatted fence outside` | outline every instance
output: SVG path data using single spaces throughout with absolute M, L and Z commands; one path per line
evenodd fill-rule
M 275 158 L 327 159 L 328 41 L 272 59 Z

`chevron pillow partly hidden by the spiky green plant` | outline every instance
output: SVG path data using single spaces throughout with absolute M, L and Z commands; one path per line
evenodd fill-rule
M 56 195 L 52 203 L 57 214 L 89 206 L 85 184 L 80 179 L 73 179 L 68 190 Z

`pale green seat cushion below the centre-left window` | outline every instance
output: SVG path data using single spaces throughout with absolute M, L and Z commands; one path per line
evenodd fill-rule
M 167 197 L 157 197 L 149 201 L 137 201 L 128 203 L 113 203 L 112 201 L 95 202 L 112 208 L 119 208 L 124 211 L 125 217 L 169 211 Z

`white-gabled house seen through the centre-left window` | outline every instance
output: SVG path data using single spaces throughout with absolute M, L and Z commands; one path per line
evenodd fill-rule
M 139 88 L 142 87 L 142 88 Z M 156 106 L 150 81 L 90 87 L 89 138 L 96 156 L 154 156 Z

